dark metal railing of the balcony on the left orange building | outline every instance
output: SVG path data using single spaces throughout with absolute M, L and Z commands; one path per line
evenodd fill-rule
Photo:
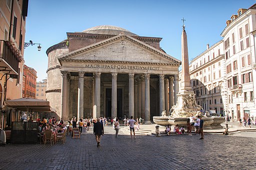
M 7 41 L 0 40 L 0 58 L 4 60 L 10 67 L 18 73 L 18 54 L 7 45 Z

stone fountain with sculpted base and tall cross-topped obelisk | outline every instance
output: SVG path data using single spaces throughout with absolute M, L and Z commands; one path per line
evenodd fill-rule
M 224 122 L 223 117 L 211 117 L 209 114 L 203 114 L 201 106 L 197 105 L 195 94 L 190 87 L 187 37 L 185 26 L 183 24 L 183 31 L 181 35 L 181 56 L 182 56 L 182 70 L 181 70 L 181 86 L 179 94 L 177 95 L 177 103 L 172 106 L 169 116 L 166 112 L 162 112 L 162 116 L 154 116 L 153 122 L 162 125 L 179 125 L 186 127 L 187 118 L 191 114 L 201 116 L 203 120 L 204 129 L 223 129 L 220 125 Z

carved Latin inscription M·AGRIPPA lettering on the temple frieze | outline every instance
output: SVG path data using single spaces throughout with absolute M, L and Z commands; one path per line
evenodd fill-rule
M 154 66 L 132 66 L 132 65 L 106 65 L 106 64 L 85 64 L 85 68 L 106 68 L 106 69 L 128 69 L 128 70 L 159 70 Z

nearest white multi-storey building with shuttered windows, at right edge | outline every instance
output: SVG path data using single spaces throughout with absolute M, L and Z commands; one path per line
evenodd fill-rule
M 251 33 L 256 29 L 256 4 L 239 9 L 222 31 L 226 60 L 226 81 L 229 115 L 233 119 L 256 117 L 254 84 L 255 41 Z

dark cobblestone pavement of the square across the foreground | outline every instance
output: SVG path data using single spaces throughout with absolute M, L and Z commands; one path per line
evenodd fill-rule
M 255 170 L 254 138 L 205 135 L 136 136 L 105 128 L 100 146 L 83 133 L 56 145 L 0 147 L 0 170 Z M 255 132 L 256 133 L 256 132 Z M 252 149 L 250 152 L 249 150 Z

